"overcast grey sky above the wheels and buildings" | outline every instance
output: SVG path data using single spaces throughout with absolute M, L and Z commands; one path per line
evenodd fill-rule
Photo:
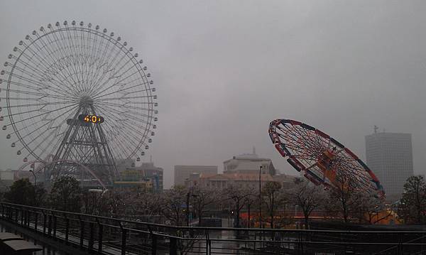
M 269 121 L 317 127 L 365 159 L 373 125 L 413 134 L 426 173 L 426 1 L 1 1 L 0 63 L 55 21 L 114 31 L 140 53 L 158 94 L 145 160 L 218 165 L 256 146 L 295 174 Z M 21 159 L 0 131 L 0 168 Z

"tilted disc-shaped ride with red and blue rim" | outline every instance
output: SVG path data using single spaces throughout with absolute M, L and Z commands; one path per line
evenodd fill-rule
M 315 185 L 336 188 L 351 180 L 358 190 L 384 197 L 374 173 L 349 148 L 300 121 L 275 119 L 269 136 L 281 156 Z

